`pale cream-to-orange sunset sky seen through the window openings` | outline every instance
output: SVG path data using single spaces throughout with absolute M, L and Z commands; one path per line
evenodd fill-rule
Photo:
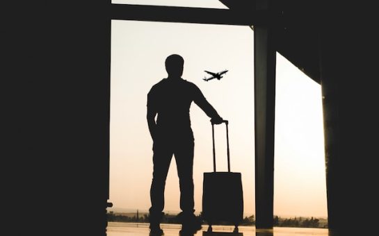
M 109 198 L 114 208 L 150 208 L 152 140 L 146 121 L 147 92 L 166 78 L 164 61 L 177 53 L 184 58 L 182 78 L 195 83 L 229 120 L 231 171 L 242 176 L 245 215 L 255 214 L 254 31 L 248 26 L 120 20 L 113 20 L 111 27 Z M 202 80 L 207 76 L 204 70 L 224 69 L 229 71 L 220 81 Z M 276 75 L 274 214 L 327 217 L 321 85 L 278 53 Z M 202 176 L 213 171 L 211 124 L 194 103 L 190 111 L 195 136 L 195 210 L 201 212 Z M 225 126 L 216 126 L 215 135 L 217 170 L 226 171 Z M 165 198 L 164 211 L 179 212 L 179 179 L 173 159 Z

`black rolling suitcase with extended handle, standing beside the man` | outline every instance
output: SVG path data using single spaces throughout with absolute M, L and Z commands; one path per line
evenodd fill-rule
M 216 151 L 214 144 L 214 124 L 212 124 L 213 139 L 213 172 L 204 173 L 202 193 L 202 218 L 209 225 L 233 224 L 234 233 L 243 220 L 243 190 L 241 173 L 230 171 L 228 121 L 223 121 L 227 133 L 227 172 L 216 171 Z

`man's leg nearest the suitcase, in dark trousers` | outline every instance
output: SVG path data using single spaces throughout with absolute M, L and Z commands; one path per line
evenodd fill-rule
M 175 160 L 177 162 L 177 174 L 180 187 L 180 208 L 182 213 L 182 229 L 199 230 L 201 222 L 195 217 L 193 201 L 193 141 L 177 145 Z

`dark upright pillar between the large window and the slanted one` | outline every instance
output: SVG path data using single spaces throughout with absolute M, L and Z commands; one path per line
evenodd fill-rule
M 257 10 L 268 1 L 257 1 Z M 257 228 L 273 228 L 276 51 L 268 26 L 254 27 L 255 214 Z

